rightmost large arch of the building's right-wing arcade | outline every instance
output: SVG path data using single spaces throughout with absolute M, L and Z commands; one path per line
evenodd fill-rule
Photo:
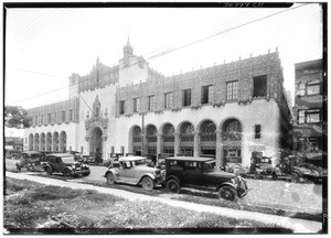
M 225 163 L 242 163 L 242 125 L 237 119 L 227 119 L 222 127 Z

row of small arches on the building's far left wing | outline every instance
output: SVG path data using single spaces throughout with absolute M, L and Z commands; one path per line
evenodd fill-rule
M 30 151 L 66 151 L 66 132 L 57 131 L 51 133 L 35 133 L 29 136 L 29 150 Z

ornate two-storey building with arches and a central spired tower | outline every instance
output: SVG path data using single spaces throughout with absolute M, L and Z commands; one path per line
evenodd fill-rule
M 118 65 L 99 58 L 89 74 L 70 77 L 70 99 L 29 110 L 26 150 L 136 154 L 213 154 L 250 163 L 287 147 L 290 111 L 279 54 L 267 53 L 166 77 L 134 54 Z

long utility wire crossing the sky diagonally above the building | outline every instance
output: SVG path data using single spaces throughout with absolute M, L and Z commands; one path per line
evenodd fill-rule
M 212 34 L 212 35 L 210 35 L 210 36 L 206 36 L 206 37 L 203 37 L 203 39 L 193 41 L 193 42 L 191 42 L 191 43 L 188 43 L 188 44 L 184 44 L 184 45 L 181 45 L 181 46 L 177 46 L 177 47 L 174 47 L 174 48 L 166 50 L 166 51 L 160 52 L 160 53 L 158 53 L 158 54 L 156 54 L 156 55 L 152 55 L 152 56 L 150 56 L 150 57 L 147 57 L 147 61 L 156 60 L 156 58 L 158 58 L 158 57 L 160 57 L 160 56 L 162 56 L 162 55 L 169 54 L 169 53 L 171 53 L 171 52 L 174 52 L 174 51 L 178 51 L 178 50 L 181 50 L 181 48 L 191 46 L 191 45 L 193 45 L 193 44 L 196 44 L 196 43 L 200 43 L 200 42 L 202 42 L 202 41 L 209 40 L 209 39 L 211 39 L 211 37 L 215 37 L 215 36 L 217 36 L 217 35 L 224 34 L 224 33 L 226 33 L 226 32 L 229 32 L 229 31 L 233 31 L 233 30 L 236 30 L 236 29 L 246 26 L 246 25 L 248 25 L 248 24 L 252 24 L 252 23 L 255 23 L 255 22 L 258 22 L 258 21 L 261 21 L 261 20 L 271 18 L 271 17 L 277 15 L 277 14 L 285 13 L 285 12 L 287 12 L 287 11 L 291 11 L 291 10 L 301 8 L 301 7 L 307 6 L 307 4 L 309 4 L 309 3 L 302 3 L 302 4 L 300 4 L 300 6 L 297 6 L 297 7 L 293 7 L 293 8 L 290 8 L 290 9 L 286 9 L 286 10 L 284 10 L 284 11 L 279 11 L 279 12 L 276 12 L 276 13 L 273 13 L 273 14 L 269 14 L 269 15 L 266 15 L 266 17 L 263 17 L 263 18 L 259 18 L 259 19 L 256 19 L 256 20 L 253 20 L 253 21 L 249 21 L 249 22 L 239 24 L 239 25 L 237 25 L 237 26 L 233 26 L 233 28 L 231 28 L 231 29 L 227 29 L 227 30 L 217 32 L 217 33 L 215 33 L 215 34 Z M 139 63 L 131 64 L 131 65 L 129 65 L 128 67 L 134 66 L 134 65 L 137 65 L 137 64 L 139 64 Z M 99 75 L 99 76 L 104 76 L 104 75 Z M 88 82 L 88 79 L 85 79 L 85 82 Z M 54 91 L 56 91 L 56 90 L 61 90 L 61 89 L 63 89 L 63 88 L 68 88 L 68 87 L 71 87 L 71 86 L 75 86 L 75 85 L 83 84 L 83 83 L 84 83 L 84 80 L 79 80 L 79 82 L 77 82 L 76 84 L 73 84 L 73 85 L 70 85 L 70 86 L 66 86 L 66 87 L 62 87 L 62 88 L 57 88 L 57 89 L 47 91 L 47 93 L 45 93 L 45 94 L 36 95 L 36 96 L 34 96 L 34 97 L 31 97 L 31 98 L 26 98 L 26 99 L 13 101 L 13 102 L 11 102 L 11 104 L 17 104 L 17 102 L 30 100 L 30 99 L 32 99 L 32 98 L 40 97 L 40 96 L 43 96 L 43 95 L 46 95 L 46 94 L 50 94 L 50 93 L 54 93 Z

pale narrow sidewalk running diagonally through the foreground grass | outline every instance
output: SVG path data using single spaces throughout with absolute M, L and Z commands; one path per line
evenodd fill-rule
M 116 188 L 106 188 L 106 187 L 99 187 L 89 184 L 81 184 L 81 183 L 66 182 L 66 181 L 60 181 L 60 180 L 53 180 L 46 177 L 39 177 L 39 176 L 33 176 L 33 175 L 28 175 L 22 173 L 6 172 L 6 176 L 18 178 L 18 180 L 30 180 L 46 185 L 65 186 L 74 190 L 94 190 L 99 193 L 121 196 L 129 201 L 154 201 L 170 206 L 194 210 L 197 213 L 205 212 L 205 213 L 213 213 L 216 215 L 222 215 L 232 218 L 242 218 L 242 219 L 250 219 L 250 220 L 257 220 L 263 223 L 277 224 L 281 227 L 292 229 L 295 232 L 314 234 L 322 229 L 322 224 L 318 221 L 289 218 L 289 217 L 269 215 L 269 214 L 260 214 L 260 213 L 254 213 L 247 210 L 236 210 L 226 207 L 215 207 L 215 206 L 207 206 L 201 204 L 193 205 L 192 203 L 188 203 L 188 202 L 172 201 L 162 197 L 152 197 L 143 194 L 136 194 L 136 193 L 116 190 Z

